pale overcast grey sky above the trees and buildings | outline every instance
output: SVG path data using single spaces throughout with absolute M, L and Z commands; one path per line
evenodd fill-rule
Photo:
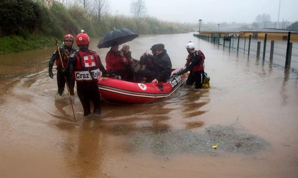
M 111 14 L 131 15 L 132 0 L 108 0 Z M 252 23 L 258 14 L 278 21 L 280 0 L 145 0 L 147 14 L 172 22 Z M 281 0 L 279 21 L 298 21 L 298 0 Z

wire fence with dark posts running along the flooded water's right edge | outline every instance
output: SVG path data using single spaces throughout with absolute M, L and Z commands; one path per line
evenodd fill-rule
M 216 45 L 222 45 L 223 48 L 232 48 L 237 52 L 243 52 L 247 55 L 255 55 L 257 58 L 265 61 L 298 70 L 297 41 L 289 41 L 288 44 L 287 40 L 270 40 L 266 39 L 266 37 L 265 39 L 252 39 L 233 35 L 228 37 L 211 37 L 194 34 L 194 36 Z

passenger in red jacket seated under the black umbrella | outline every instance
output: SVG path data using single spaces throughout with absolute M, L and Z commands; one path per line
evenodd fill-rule
M 124 57 L 123 52 L 119 51 L 119 43 L 112 42 L 112 47 L 106 55 L 106 69 L 113 70 L 121 79 L 125 79 L 125 67 L 128 65 L 128 60 Z

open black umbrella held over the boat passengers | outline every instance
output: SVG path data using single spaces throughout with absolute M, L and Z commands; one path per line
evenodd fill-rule
M 132 41 L 139 35 L 132 30 L 129 29 L 117 29 L 110 31 L 105 34 L 101 40 L 99 41 L 97 47 L 98 48 L 109 48 L 112 46 L 113 41 L 119 42 L 119 44 L 123 44 L 125 42 Z

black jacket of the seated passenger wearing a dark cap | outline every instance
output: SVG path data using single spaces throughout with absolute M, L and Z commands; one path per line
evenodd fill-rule
M 149 72 L 152 77 L 156 80 L 166 82 L 166 80 L 171 76 L 172 63 L 169 55 L 164 51 L 160 55 L 156 56 L 152 64 L 152 70 Z

